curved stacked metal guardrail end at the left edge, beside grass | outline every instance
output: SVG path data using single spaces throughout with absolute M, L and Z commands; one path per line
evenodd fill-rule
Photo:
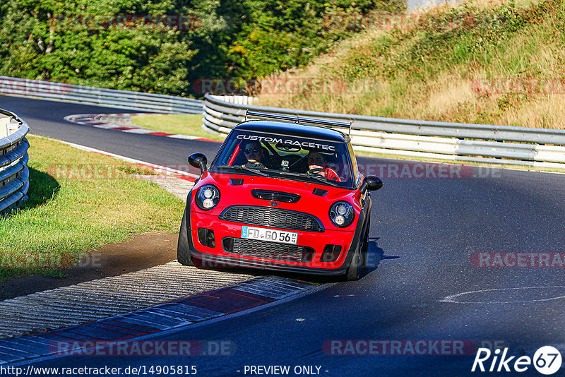
M 16 114 L 0 109 L 0 214 L 25 200 L 30 186 L 28 124 Z

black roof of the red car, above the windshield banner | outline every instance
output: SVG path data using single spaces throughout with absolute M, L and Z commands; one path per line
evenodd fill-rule
M 304 138 L 318 138 L 341 143 L 347 143 L 347 141 L 349 141 L 347 134 L 331 128 L 295 124 L 287 121 L 244 121 L 233 129 L 239 131 L 278 133 L 288 136 L 302 136 Z

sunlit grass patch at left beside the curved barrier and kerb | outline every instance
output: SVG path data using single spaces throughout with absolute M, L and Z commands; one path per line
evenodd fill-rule
M 153 170 L 56 140 L 28 140 L 29 200 L 0 218 L 0 281 L 58 275 L 86 251 L 133 234 L 178 232 L 184 203 L 133 176 Z

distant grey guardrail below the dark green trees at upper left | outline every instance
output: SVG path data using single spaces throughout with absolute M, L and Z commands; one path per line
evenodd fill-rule
M 44 100 L 81 102 L 145 112 L 202 113 L 201 100 L 5 76 L 0 76 L 0 94 L 39 97 Z

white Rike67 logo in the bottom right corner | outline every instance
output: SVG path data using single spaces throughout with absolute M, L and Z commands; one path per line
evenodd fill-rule
M 537 349 L 533 359 L 529 356 L 521 356 L 518 358 L 516 358 L 516 356 L 507 357 L 507 354 L 508 348 L 504 348 L 502 352 L 500 349 L 495 349 L 494 352 L 492 352 L 488 348 L 479 348 L 475 356 L 475 361 L 472 363 L 471 371 L 510 372 L 513 369 L 513 371 L 521 373 L 528 371 L 533 364 L 538 372 L 549 376 L 556 373 L 559 371 L 559 368 L 561 368 L 561 354 L 557 348 L 552 346 L 544 346 Z

